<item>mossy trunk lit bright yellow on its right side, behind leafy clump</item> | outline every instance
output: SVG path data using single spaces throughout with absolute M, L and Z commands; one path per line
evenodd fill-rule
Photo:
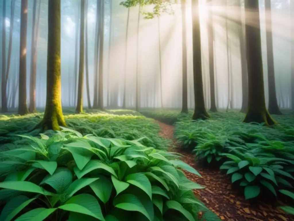
M 60 1 L 49 0 L 48 2 L 46 108 L 43 120 L 36 126 L 41 128 L 41 132 L 46 130 L 60 130 L 60 126 L 66 126 L 61 107 Z

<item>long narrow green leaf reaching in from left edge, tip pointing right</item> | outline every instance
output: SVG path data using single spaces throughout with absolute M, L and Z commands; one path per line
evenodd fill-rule
M 4 181 L 0 183 L 0 188 L 14 189 L 14 190 L 32 192 L 32 193 L 41 193 L 43 195 L 48 195 L 48 196 L 52 195 L 51 192 L 28 181 Z

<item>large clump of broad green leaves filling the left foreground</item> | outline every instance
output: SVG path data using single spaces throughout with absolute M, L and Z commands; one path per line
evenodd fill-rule
M 20 135 L 26 146 L 0 153 L 0 220 L 219 220 L 193 194 L 204 187 L 182 169 L 200 174 L 178 154 L 145 146 L 143 138 L 62 129 Z

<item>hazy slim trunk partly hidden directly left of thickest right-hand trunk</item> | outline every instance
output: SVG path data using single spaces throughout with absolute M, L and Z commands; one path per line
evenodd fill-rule
M 242 75 L 242 106 L 241 113 L 246 113 L 248 106 L 248 74 L 247 74 L 247 60 L 246 60 L 246 45 L 243 33 L 243 21 L 242 21 L 242 7 L 239 0 L 236 1 L 236 6 L 240 9 L 238 19 L 240 24 L 238 25 L 238 37 L 240 42 L 240 57 L 241 57 L 241 75 Z

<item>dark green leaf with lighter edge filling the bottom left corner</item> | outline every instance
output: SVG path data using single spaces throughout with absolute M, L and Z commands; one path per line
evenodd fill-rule
M 29 199 L 26 196 L 19 195 L 9 200 L 0 215 L 0 220 L 10 221 L 12 220 L 24 207 L 26 207 L 30 202 L 36 198 Z

